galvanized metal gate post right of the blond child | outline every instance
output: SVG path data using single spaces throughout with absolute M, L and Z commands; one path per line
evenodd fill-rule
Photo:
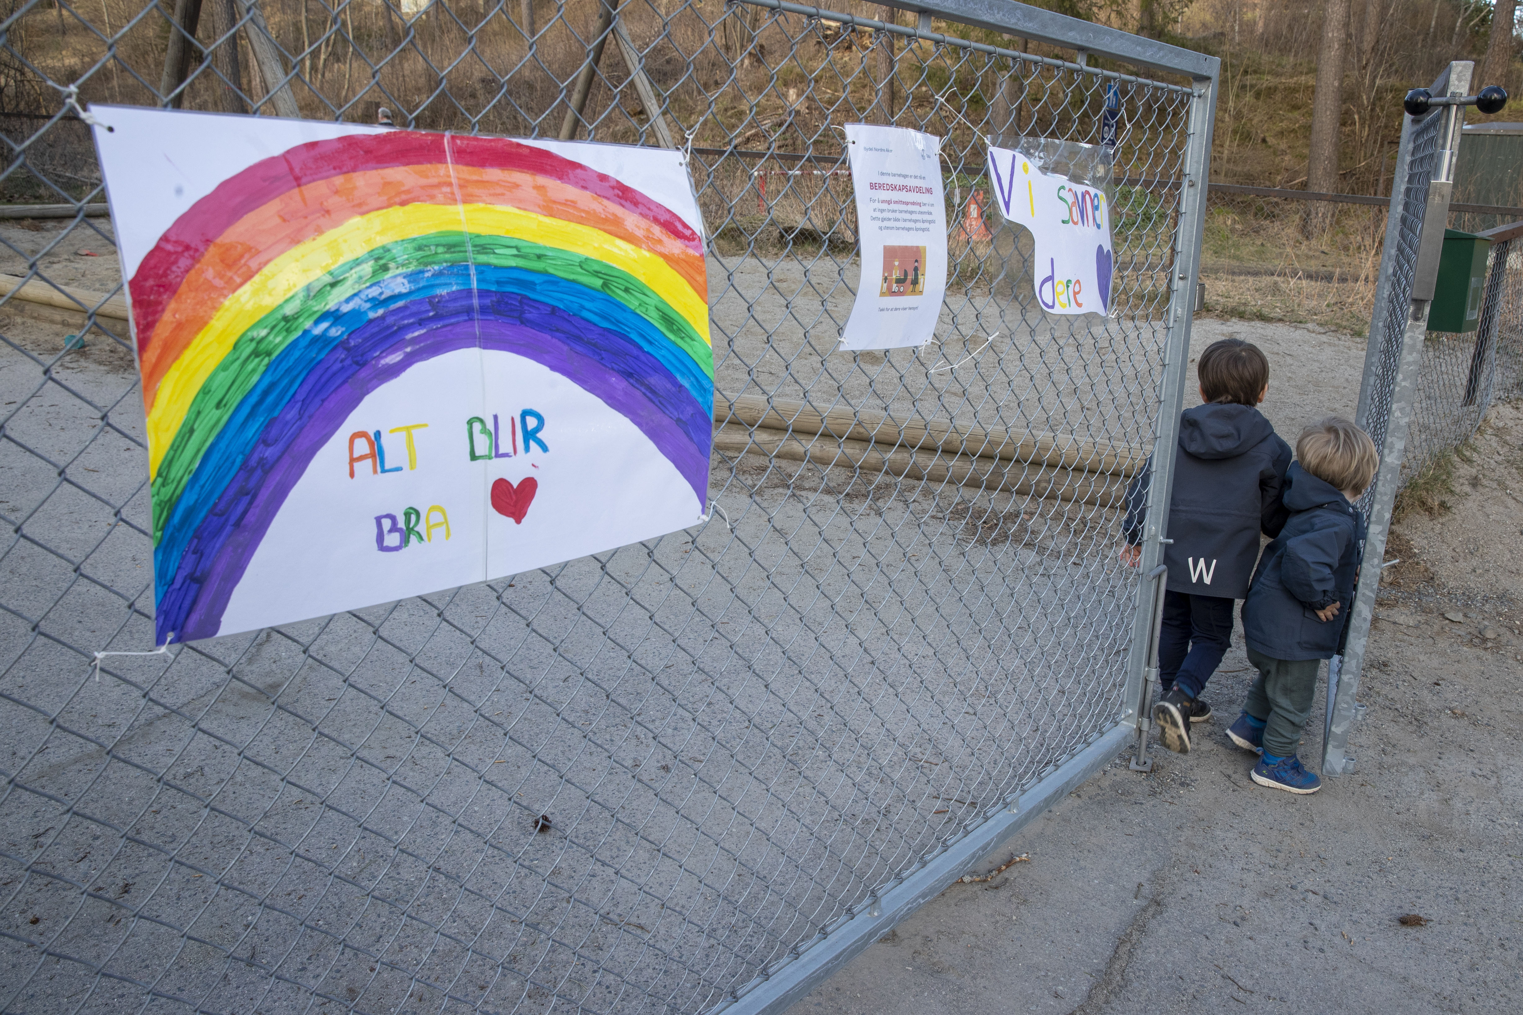
M 1468 94 L 1473 72 L 1471 61 L 1454 61 L 1438 76 L 1430 91 L 1435 96 Z M 1418 371 L 1422 367 L 1422 342 L 1438 278 L 1444 227 L 1448 222 L 1454 163 L 1464 125 L 1465 110 L 1458 105 L 1441 107 L 1424 117 L 1403 116 L 1390 187 L 1390 213 L 1386 218 L 1386 243 L 1380 257 L 1375 309 L 1365 352 L 1365 379 L 1354 418 L 1375 438 L 1380 472 L 1375 473 L 1375 482 L 1360 504 L 1366 511 L 1369 528 L 1349 618 L 1348 645 L 1342 656 L 1334 656 L 1328 662 L 1327 720 L 1322 735 L 1325 776 L 1337 778 L 1354 770 L 1354 758 L 1348 755 L 1348 733 L 1359 715 L 1355 695 L 1369 647 L 1369 625 L 1375 615 L 1375 593 L 1380 589 L 1386 537 L 1390 534 L 1390 511 L 1401 488 L 1407 428 L 1412 423 Z M 1419 134 L 1432 135 L 1435 131 L 1438 158 L 1424 177 L 1426 167 L 1413 164 L 1416 138 Z M 1419 236 L 1415 237 L 1415 243 L 1410 239 L 1404 243 L 1403 228 L 1406 227 L 1410 234 L 1413 218 L 1419 222 Z M 1398 326 L 1400 333 L 1397 333 Z

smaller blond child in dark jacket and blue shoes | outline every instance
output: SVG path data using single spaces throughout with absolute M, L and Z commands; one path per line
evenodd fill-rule
M 1243 632 L 1258 679 L 1228 737 L 1261 755 L 1253 782 L 1290 793 L 1316 793 L 1296 744 L 1311 712 L 1317 668 L 1339 650 L 1354 597 L 1365 519 L 1354 501 L 1375 478 L 1380 458 L 1365 431 L 1328 417 L 1296 441 L 1285 473 L 1290 519 L 1258 562 Z M 1342 616 L 1340 616 L 1342 615 Z

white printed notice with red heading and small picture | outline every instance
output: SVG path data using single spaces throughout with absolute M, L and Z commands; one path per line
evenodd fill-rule
M 862 280 L 842 348 L 903 348 L 935 336 L 947 288 L 941 138 L 848 123 Z

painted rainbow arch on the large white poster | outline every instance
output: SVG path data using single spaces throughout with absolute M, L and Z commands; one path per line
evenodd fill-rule
M 582 163 L 413 131 L 299 145 L 196 201 L 128 289 L 160 644 L 218 633 L 317 450 L 366 394 L 457 348 L 573 379 L 707 502 L 702 239 Z

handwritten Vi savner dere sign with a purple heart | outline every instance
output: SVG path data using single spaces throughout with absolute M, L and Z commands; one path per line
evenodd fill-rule
M 1042 172 L 1028 155 L 988 149 L 995 204 L 1036 240 L 1037 301 L 1048 313 L 1109 313 L 1115 268 L 1110 201 L 1100 187 Z

